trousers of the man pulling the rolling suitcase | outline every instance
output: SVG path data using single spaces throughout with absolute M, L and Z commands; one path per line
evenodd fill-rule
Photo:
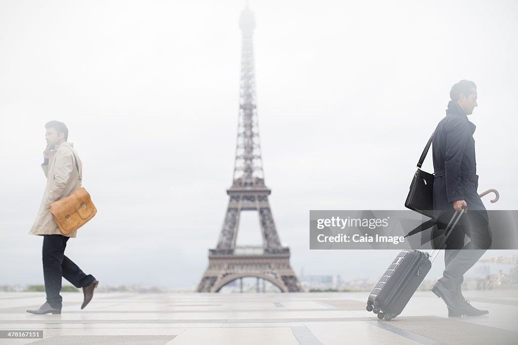
M 464 245 L 465 235 L 470 239 L 466 245 Z M 442 278 L 439 279 L 443 286 L 462 296 L 461 285 L 464 281 L 464 274 L 491 247 L 491 242 L 490 228 L 487 224 L 461 226 L 453 229 L 446 244 L 447 248 L 456 249 L 446 249 L 444 251 L 445 268 Z

